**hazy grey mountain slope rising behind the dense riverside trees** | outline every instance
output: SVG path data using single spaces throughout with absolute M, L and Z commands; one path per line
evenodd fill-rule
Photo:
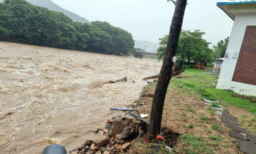
M 80 17 L 79 15 L 68 11 L 67 9 L 63 9 L 59 7 L 59 5 L 53 3 L 51 0 L 26 0 L 29 3 L 33 5 L 37 5 L 39 7 L 46 7 L 53 11 L 58 11 L 64 13 L 64 15 L 67 15 L 69 18 L 71 18 L 73 21 L 78 21 L 81 23 L 90 23 L 89 20 L 86 20 L 86 18 Z M 4 2 L 4 0 L 0 0 L 0 2 Z

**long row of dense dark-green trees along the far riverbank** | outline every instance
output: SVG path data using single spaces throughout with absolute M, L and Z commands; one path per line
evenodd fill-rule
M 25 0 L 0 3 L 0 40 L 115 55 L 126 55 L 134 47 L 132 34 L 121 28 L 100 21 L 73 22 Z

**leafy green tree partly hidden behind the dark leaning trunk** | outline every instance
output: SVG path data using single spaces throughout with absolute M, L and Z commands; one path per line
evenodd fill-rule
M 203 39 L 203 35 L 205 33 L 200 30 L 195 31 L 181 31 L 181 35 L 178 39 L 178 49 L 177 56 L 178 61 L 181 62 L 181 65 L 187 61 L 214 61 L 214 53 L 208 45 L 205 39 Z M 167 45 L 167 35 L 163 38 L 159 39 L 159 45 L 161 45 L 157 49 L 158 58 L 162 58 L 165 55 L 165 49 Z

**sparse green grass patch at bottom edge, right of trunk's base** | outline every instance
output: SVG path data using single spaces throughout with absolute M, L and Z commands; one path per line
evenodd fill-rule
M 214 153 L 208 146 L 209 143 L 206 142 L 202 137 L 184 134 L 181 136 L 183 139 L 184 147 L 187 153 Z

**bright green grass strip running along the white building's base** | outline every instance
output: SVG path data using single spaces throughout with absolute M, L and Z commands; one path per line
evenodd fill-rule
M 173 78 L 170 82 L 169 87 L 178 90 L 178 93 L 182 93 L 187 89 L 192 89 L 191 94 L 199 93 L 199 95 L 206 99 L 221 101 L 224 105 L 232 105 L 238 108 L 248 109 L 249 112 L 256 115 L 256 104 L 252 103 L 249 100 L 241 99 L 238 97 L 232 96 L 233 91 L 216 89 L 216 85 L 211 86 L 217 83 L 217 77 L 214 77 L 215 74 L 206 74 L 206 71 L 200 69 L 185 69 L 183 73 L 186 78 Z M 177 85 L 183 85 L 183 88 L 178 88 Z M 204 88 L 199 88 L 204 87 Z M 197 89 L 200 91 L 198 92 Z M 236 93 L 238 94 L 238 93 Z M 239 95 L 239 94 L 238 94 Z M 249 98 L 255 99 L 255 97 Z

